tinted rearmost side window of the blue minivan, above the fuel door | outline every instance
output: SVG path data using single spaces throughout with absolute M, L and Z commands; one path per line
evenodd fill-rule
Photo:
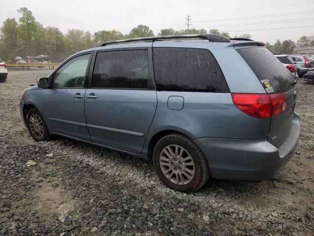
M 229 90 L 208 50 L 154 48 L 153 61 L 158 90 Z

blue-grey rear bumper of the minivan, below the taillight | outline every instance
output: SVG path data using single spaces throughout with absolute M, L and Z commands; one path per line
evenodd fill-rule
M 208 159 L 211 176 L 260 181 L 274 176 L 291 159 L 300 136 L 300 117 L 294 114 L 291 132 L 280 147 L 265 140 L 199 138 L 195 143 Z

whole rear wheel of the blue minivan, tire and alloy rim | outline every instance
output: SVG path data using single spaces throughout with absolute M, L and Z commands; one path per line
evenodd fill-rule
M 161 138 L 154 149 L 153 161 L 160 180 L 181 192 L 196 191 L 209 179 L 204 154 L 182 134 L 172 133 Z

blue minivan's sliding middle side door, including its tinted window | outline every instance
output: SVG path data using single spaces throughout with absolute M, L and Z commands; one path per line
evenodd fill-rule
M 149 70 L 149 52 L 99 52 L 85 116 L 91 141 L 139 154 L 155 115 L 157 96 Z

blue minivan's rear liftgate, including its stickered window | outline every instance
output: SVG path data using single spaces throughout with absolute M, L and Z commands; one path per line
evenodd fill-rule
M 285 111 L 271 118 L 268 135 L 268 142 L 279 148 L 288 138 L 292 127 L 297 97 L 294 78 L 265 47 L 245 47 L 236 50 L 256 74 L 266 93 L 283 93 L 286 96 Z

